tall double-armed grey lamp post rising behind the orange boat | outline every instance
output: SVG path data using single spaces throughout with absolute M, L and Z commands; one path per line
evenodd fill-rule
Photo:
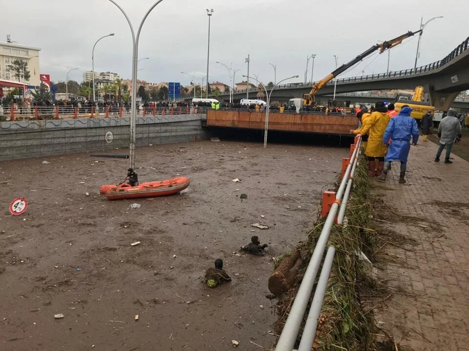
M 156 1 L 153 6 L 147 11 L 143 20 L 140 22 L 140 26 L 138 27 L 137 36 L 135 37 L 135 32 L 133 30 L 132 23 L 128 18 L 126 12 L 122 9 L 121 6 L 115 0 L 109 0 L 112 2 L 116 7 L 121 10 L 122 14 L 125 16 L 128 26 L 130 27 L 130 32 L 132 33 L 132 42 L 133 42 L 133 54 L 132 54 L 132 98 L 131 98 L 131 105 L 130 105 L 130 168 L 135 168 L 135 117 L 137 116 L 137 56 L 138 56 L 138 39 L 140 39 L 140 32 L 142 30 L 143 23 L 147 20 L 148 15 L 150 14 L 151 10 L 153 10 L 156 5 L 158 5 L 163 0 Z

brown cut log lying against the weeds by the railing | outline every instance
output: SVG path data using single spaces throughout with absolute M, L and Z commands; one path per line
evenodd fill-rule
M 297 281 L 298 270 L 303 264 L 299 250 L 294 249 L 285 256 L 269 278 L 269 290 L 277 297 L 292 289 Z

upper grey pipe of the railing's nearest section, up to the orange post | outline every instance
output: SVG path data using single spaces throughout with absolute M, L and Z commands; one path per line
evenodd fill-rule
M 349 170 L 350 171 L 350 170 Z M 337 210 L 339 204 L 334 202 L 327 215 L 324 226 L 322 227 L 321 234 L 319 236 L 316 247 L 314 248 L 313 255 L 309 261 L 306 272 L 304 273 L 303 280 L 299 286 L 297 296 L 293 302 L 288 318 L 285 322 L 285 326 L 278 338 L 277 346 L 275 351 L 292 351 L 297 340 L 297 335 L 301 322 L 303 321 L 304 312 L 306 311 L 306 306 L 308 305 L 309 297 L 313 291 L 314 282 L 319 271 L 321 264 L 322 256 L 327 245 L 327 240 L 329 239 L 329 234 L 331 233 L 332 225 L 334 224 L 334 218 L 337 215 Z

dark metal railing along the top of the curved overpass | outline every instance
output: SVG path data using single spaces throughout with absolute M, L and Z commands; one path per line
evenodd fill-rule
M 410 68 L 406 70 L 401 70 L 401 71 L 393 71 L 393 72 L 387 72 L 387 73 L 379 73 L 379 74 L 373 74 L 373 75 L 367 75 L 367 76 L 358 76 L 358 77 L 348 77 L 348 78 L 340 78 L 340 79 L 333 79 L 330 82 L 328 82 L 326 85 L 332 85 L 335 84 L 337 81 L 337 84 L 342 84 L 342 83 L 349 83 L 349 82 L 359 82 L 359 81 L 365 81 L 365 80 L 372 80 L 372 79 L 383 79 L 383 78 L 395 78 L 395 77 L 405 77 L 405 76 L 411 76 L 414 74 L 419 74 L 419 73 L 424 73 L 428 72 L 440 67 L 443 67 L 446 65 L 448 62 L 450 62 L 452 59 L 455 59 L 459 55 L 461 55 L 464 51 L 466 51 L 469 47 L 469 37 L 464 40 L 461 44 L 459 44 L 453 51 L 451 51 L 445 58 L 426 64 L 424 66 L 417 67 L 416 69 Z M 281 84 L 278 85 L 276 89 L 295 89 L 299 87 L 311 87 L 317 82 L 307 82 L 307 83 L 288 83 L 288 84 Z M 257 92 L 258 89 L 249 89 L 249 92 Z M 247 89 L 242 89 L 242 90 L 235 90 L 235 94 L 241 94 L 241 93 L 246 93 Z

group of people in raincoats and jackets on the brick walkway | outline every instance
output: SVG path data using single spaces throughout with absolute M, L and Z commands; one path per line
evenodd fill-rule
M 399 183 L 405 183 L 410 145 L 417 145 L 419 139 L 417 121 L 410 117 L 411 112 L 412 108 L 404 105 L 397 113 L 394 111 L 394 104 L 386 107 L 383 101 L 378 101 L 369 112 L 366 108 L 358 111 L 359 128 L 350 132 L 362 136 L 370 176 L 377 176 L 379 180 L 385 181 L 391 162 L 400 161 Z M 428 111 L 422 119 L 424 140 L 427 141 L 433 123 L 431 112 Z M 440 146 L 435 162 L 440 161 L 440 156 L 446 148 L 445 163 L 450 164 L 451 148 L 462 137 L 460 119 L 455 110 L 449 109 L 448 115 L 441 120 L 438 137 Z

